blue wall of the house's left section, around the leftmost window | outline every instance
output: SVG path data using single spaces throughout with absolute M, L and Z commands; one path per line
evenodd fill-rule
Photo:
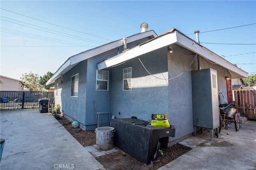
M 128 43 L 127 47 L 132 48 L 140 43 L 148 41 L 150 38 L 140 39 L 132 43 Z M 124 50 L 123 46 L 119 47 L 119 52 Z M 118 54 L 118 47 L 86 59 L 63 74 L 63 78 L 58 78 L 55 84 L 58 84 L 58 96 L 55 96 L 55 103 L 61 105 L 64 116 L 70 121 L 79 121 L 80 127 L 85 130 L 93 130 L 96 128 L 96 113 L 94 110 L 94 101 L 97 112 L 111 111 L 111 79 L 112 69 L 109 71 L 109 88 L 108 91 L 96 90 L 96 70 L 97 63 L 108 57 Z M 78 97 L 71 97 L 71 77 L 79 74 Z M 63 79 L 63 83 L 61 80 Z

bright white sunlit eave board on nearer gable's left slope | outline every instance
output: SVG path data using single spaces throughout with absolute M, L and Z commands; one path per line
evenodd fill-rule
M 149 43 L 145 43 L 141 46 L 138 45 L 128 51 L 125 51 L 123 53 L 120 53 L 119 55 L 106 59 L 101 63 L 98 63 L 98 70 L 102 70 L 104 68 L 108 68 L 110 66 L 123 63 L 124 61 L 133 59 L 145 53 L 149 53 L 156 49 L 165 47 L 167 45 L 175 43 L 176 41 L 177 39 L 176 39 L 176 31 L 175 31 L 174 33 L 164 35 L 160 38 L 154 39 L 154 41 L 150 41 Z

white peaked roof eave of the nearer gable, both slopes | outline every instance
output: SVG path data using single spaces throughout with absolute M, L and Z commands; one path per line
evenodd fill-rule
M 232 63 L 226 61 L 222 57 L 216 55 L 212 51 L 208 50 L 207 48 L 199 45 L 194 40 L 190 39 L 186 35 L 179 33 L 176 29 L 172 29 L 172 31 L 160 35 L 155 39 L 152 39 L 148 42 L 142 43 L 124 53 L 118 54 L 114 57 L 111 57 L 101 63 L 98 63 L 98 69 L 102 70 L 104 68 L 108 68 L 110 66 L 114 66 L 116 64 L 120 64 L 132 58 L 138 57 L 144 53 L 149 53 L 150 51 L 154 51 L 156 49 L 162 48 L 164 46 L 168 46 L 171 44 L 178 44 L 198 55 L 212 61 L 214 63 L 219 64 L 220 66 L 227 68 L 232 75 L 232 78 L 244 78 L 248 77 L 248 73 L 244 70 L 234 66 Z

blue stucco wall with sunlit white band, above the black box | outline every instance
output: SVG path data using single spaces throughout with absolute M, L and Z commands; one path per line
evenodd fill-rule
M 166 53 L 158 49 L 138 58 L 151 74 L 167 78 Z M 138 58 L 112 68 L 111 111 L 117 118 L 136 116 L 147 121 L 151 114 L 168 113 L 168 82 L 151 76 Z M 132 90 L 123 90 L 123 69 L 128 67 L 132 67 Z

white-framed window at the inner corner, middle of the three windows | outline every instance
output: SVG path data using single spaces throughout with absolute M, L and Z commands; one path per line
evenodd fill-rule
M 96 90 L 108 90 L 108 71 L 97 70 Z

